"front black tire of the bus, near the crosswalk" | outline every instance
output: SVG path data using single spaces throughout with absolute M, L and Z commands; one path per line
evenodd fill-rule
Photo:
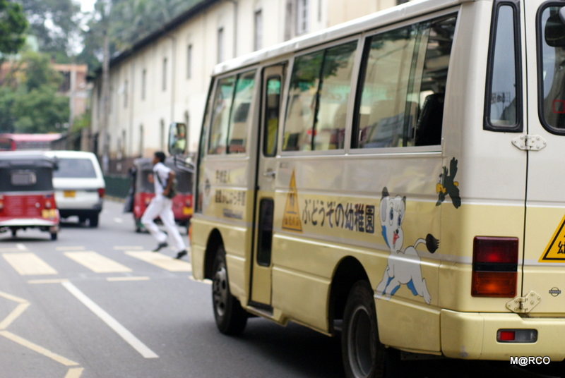
M 218 247 L 213 272 L 212 304 L 216 326 L 222 334 L 239 335 L 247 324 L 247 312 L 230 291 L 225 250 L 222 245 Z

